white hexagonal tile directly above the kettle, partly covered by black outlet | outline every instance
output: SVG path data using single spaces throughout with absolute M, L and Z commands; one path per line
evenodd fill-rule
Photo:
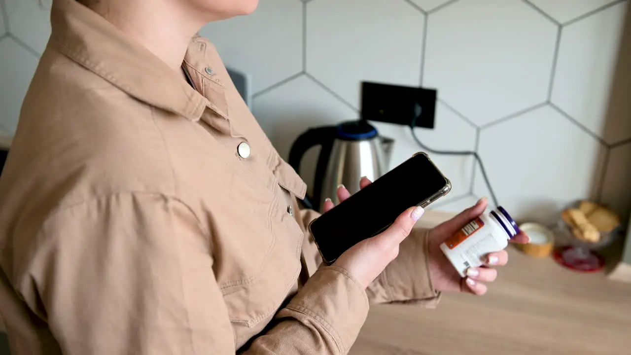
M 423 21 L 404 1 L 311 1 L 307 72 L 355 107 L 363 80 L 418 86 Z

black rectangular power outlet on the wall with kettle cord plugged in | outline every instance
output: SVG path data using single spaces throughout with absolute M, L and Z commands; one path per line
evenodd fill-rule
M 362 119 L 434 128 L 436 90 L 362 82 Z

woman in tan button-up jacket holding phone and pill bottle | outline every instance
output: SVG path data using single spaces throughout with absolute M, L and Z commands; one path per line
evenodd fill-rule
M 461 279 L 438 249 L 486 200 L 406 238 L 410 208 L 319 265 L 305 184 L 196 37 L 256 5 L 54 0 L 0 183 L 14 354 L 345 354 L 369 300 L 431 306 L 495 279 Z

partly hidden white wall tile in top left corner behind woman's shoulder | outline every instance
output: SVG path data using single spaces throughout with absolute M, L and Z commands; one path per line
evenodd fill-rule
M 11 33 L 35 52 L 44 51 L 50 37 L 52 0 L 4 0 Z

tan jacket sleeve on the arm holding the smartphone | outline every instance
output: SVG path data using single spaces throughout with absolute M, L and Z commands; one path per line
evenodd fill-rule
M 54 212 L 19 287 L 64 354 L 234 354 L 209 238 L 183 203 L 115 195 Z M 346 354 L 369 309 L 322 268 L 245 354 Z

